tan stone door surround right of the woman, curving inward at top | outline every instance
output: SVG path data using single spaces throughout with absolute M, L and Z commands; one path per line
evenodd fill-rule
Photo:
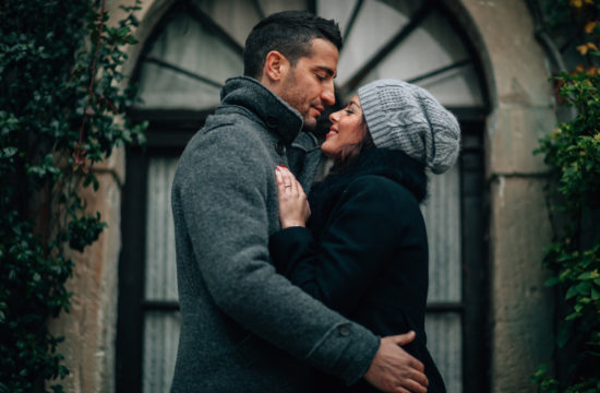
M 520 0 L 464 0 L 485 48 L 492 114 L 485 130 L 490 184 L 491 391 L 535 392 L 529 378 L 549 362 L 552 303 L 543 288 L 551 228 L 545 167 L 532 151 L 555 127 L 545 55 Z

